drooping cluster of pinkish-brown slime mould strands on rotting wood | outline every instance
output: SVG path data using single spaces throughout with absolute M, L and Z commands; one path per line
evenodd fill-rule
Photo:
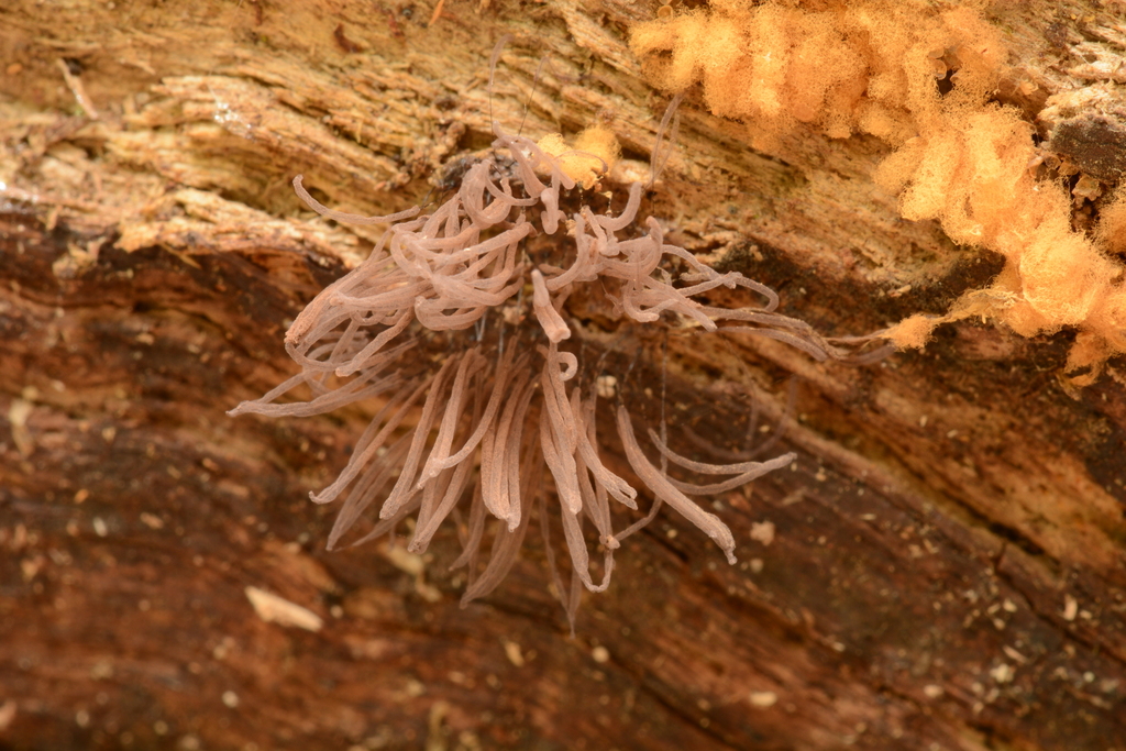
M 289 328 L 286 349 L 302 373 L 231 413 L 309 415 L 373 400 L 378 409 L 347 466 L 312 494 L 318 503 L 343 499 L 329 546 L 337 546 L 369 507 L 378 506 L 377 520 L 357 542 L 388 534 L 415 515 L 409 548 L 422 553 L 443 521 L 467 500 L 464 548 L 455 563 L 468 566 L 466 602 L 490 592 L 512 566 L 534 509 L 539 509 L 535 516 L 548 537 L 546 468 L 570 552 L 570 590 L 554 571 L 549 547 L 548 557 L 573 623 L 581 588 L 598 591 L 609 584 L 614 551 L 662 502 L 712 537 L 733 562 L 731 530 L 687 493 L 734 488 L 794 458 L 786 454 L 761 463 L 701 464 L 674 454 L 654 435 L 656 448 L 674 465 L 734 475 L 691 485 L 650 462 L 629 414 L 618 406 L 617 432 L 626 458 L 656 500 L 649 516 L 615 533 L 609 499 L 636 509 L 637 490 L 599 458 L 596 390 L 568 385 L 583 381 L 579 357 L 560 349 L 574 338 L 565 302 L 575 286 L 593 283 L 591 288 L 605 290 L 619 316 L 641 323 L 676 314 L 707 331 L 774 337 L 822 359 L 843 350 L 801 321 L 776 313 L 778 297 L 771 289 L 739 272 L 720 274 L 667 243 L 656 220 L 647 218 L 637 232 L 640 184 L 629 187 L 617 215 L 580 206 L 569 220 L 560 204 L 562 191 L 575 181 L 560 168 L 558 158 L 497 125 L 494 133 L 494 155 L 471 167 L 457 193 L 429 214 L 334 212 L 314 200 L 300 177 L 294 180 L 297 194 L 322 216 L 391 226 L 372 254 L 318 295 Z M 499 152 L 510 160 L 502 162 Z M 552 263 L 529 265 L 528 241 L 555 234 L 564 222 L 573 232 L 551 240 L 556 249 Z M 665 268 L 670 261 L 683 270 L 679 278 Z M 742 287 L 765 302 L 729 310 L 694 299 L 718 287 Z M 533 320 L 530 328 L 519 325 Z M 512 322 L 517 330 L 506 332 Z M 293 401 L 298 390 L 307 392 L 304 401 Z M 479 571 L 489 517 L 498 524 L 484 553 L 488 563 Z M 597 581 L 583 531 L 587 521 L 602 546 Z

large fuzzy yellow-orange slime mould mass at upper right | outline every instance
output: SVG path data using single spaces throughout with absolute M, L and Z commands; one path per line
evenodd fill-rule
M 1126 196 L 1096 241 L 1071 230 L 1063 186 L 1029 171 L 1031 127 L 988 101 L 1006 57 L 1000 32 L 967 7 L 815 5 L 714 0 L 711 12 L 635 26 L 631 46 L 655 86 L 703 83 L 707 107 L 747 123 L 758 149 L 810 129 L 882 138 L 894 151 L 875 178 L 900 195 L 905 218 L 938 220 L 955 242 L 1006 257 L 989 294 L 893 328 L 900 347 L 921 347 L 939 323 L 976 315 L 1024 336 L 1078 327 L 1073 366 L 1126 351 L 1123 267 L 1100 248 L 1126 244 Z M 947 78 L 951 88 L 940 93 L 937 81 Z

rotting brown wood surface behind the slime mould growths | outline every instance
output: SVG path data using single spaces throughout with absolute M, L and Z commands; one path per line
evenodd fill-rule
M 962 324 L 869 368 L 668 337 L 673 431 L 738 447 L 795 373 L 799 459 L 716 499 L 738 565 L 663 513 L 575 638 L 535 544 L 464 610 L 452 529 L 422 558 L 323 552 L 333 509 L 306 497 L 365 415 L 224 414 L 292 373 L 287 321 L 375 236 L 311 220 L 292 175 L 363 213 L 440 194 L 488 146 L 506 32 L 509 127 L 608 118 L 645 169 L 664 106 L 624 45 L 655 3 L 432 11 L 0 10 L 0 743 L 1126 748 L 1126 394 L 1065 393 L 1066 333 Z M 1099 86 L 1123 54 L 1093 5 L 999 12 L 1030 116 L 1021 81 Z M 873 143 L 810 138 L 784 162 L 690 98 L 681 120 L 649 213 L 823 331 L 941 310 L 997 271 L 896 218 Z M 633 377 L 660 383 L 661 341 L 620 367 L 642 352 Z M 322 627 L 267 623 L 248 587 Z

